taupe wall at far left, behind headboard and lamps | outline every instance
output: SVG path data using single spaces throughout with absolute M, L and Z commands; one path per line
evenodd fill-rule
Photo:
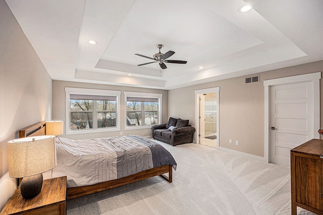
M 0 0 L 0 210 L 17 188 L 7 142 L 51 116 L 51 78 L 5 0 Z

